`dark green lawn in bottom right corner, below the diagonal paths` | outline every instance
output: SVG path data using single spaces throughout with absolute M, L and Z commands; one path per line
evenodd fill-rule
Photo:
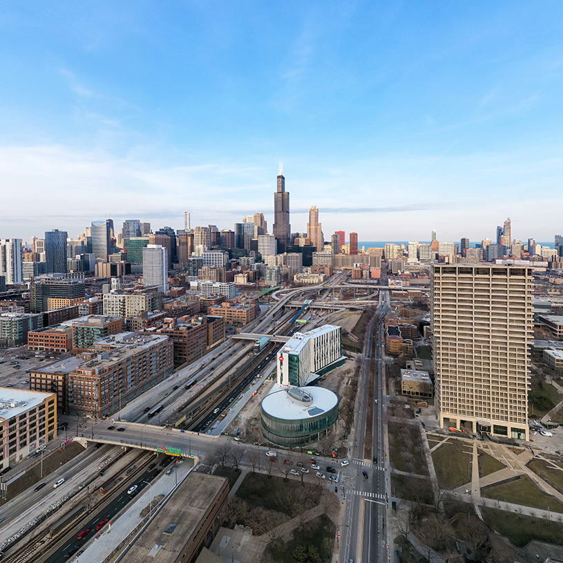
M 495 508 L 481 508 L 485 522 L 513 544 L 524 547 L 531 540 L 563 545 L 561 524 L 544 519 L 522 516 Z M 547 524 L 547 526 L 546 526 Z

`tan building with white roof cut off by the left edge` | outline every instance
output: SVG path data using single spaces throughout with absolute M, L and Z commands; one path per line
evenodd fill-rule
M 57 395 L 0 388 L 0 435 L 2 469 L 57 438 Z

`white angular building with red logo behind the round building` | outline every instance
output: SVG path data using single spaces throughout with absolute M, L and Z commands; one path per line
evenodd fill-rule
M 278 385 L 303 387 L 342 365 L 341 335 L 333 325 L 296 332 L 278 352 Z

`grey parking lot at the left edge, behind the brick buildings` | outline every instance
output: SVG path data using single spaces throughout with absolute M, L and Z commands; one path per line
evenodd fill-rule
M 39 356 L 44 357 L 37 357 Z M 68 354 L 28 351 L 27 346 L 0 348 L 0 387 L 29 389 L 29 372 L 53 363 Z

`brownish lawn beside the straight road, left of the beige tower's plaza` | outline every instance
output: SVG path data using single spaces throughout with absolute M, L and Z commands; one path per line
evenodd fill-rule
M 412 424 L 388 424 L 391 465 L 399 471 L 428 475 L 420 430 Z

